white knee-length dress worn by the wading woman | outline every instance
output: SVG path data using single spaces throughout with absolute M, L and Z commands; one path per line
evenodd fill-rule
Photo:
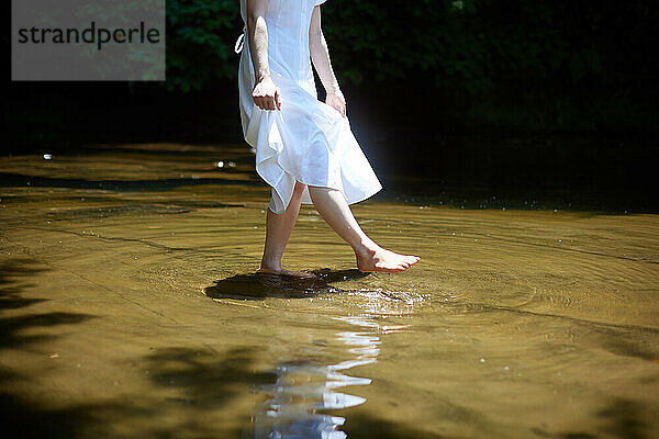
M 268 63 L 280 89 L 281 111 L 260 110 L 252 99 L 254 66 L 244 33 L 238 70 L 245 140 L 256 149 L 256 170 L 272 187 L 270 210 L 282 213 L 295 180 L 339 190 L 348 204 L 382 189 L 350 131 L 347 117 L 319 101 L 311 67 L 311 13 L 325 0 L 269 0 Z M 246 23 L 245 0 L 241 15 Z M 246 26 L 245 26 L 246 30 Z M 302 203 L 311 204 L 304 189 Z

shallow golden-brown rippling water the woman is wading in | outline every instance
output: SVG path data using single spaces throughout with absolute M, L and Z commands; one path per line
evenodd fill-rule
M 364 274 L 305 206 L 284 264 L 317 278 L 290 281 L 253 273 L 269 192 L 252 164 L 242 146 L 0 158 L 0 385 L 14 428 L 658 436 L 657 215 L 382 193 L 355 215 L 423 259 Z

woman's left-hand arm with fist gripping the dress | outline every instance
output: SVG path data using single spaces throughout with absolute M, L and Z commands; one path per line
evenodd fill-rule
M 268 66 L 268 0 L 247 0 L 247 40 L 254 66 L 256 86 L 252 91 L 254 103 L 261 110 L 281 110 L 279 88 L 270 78 Z

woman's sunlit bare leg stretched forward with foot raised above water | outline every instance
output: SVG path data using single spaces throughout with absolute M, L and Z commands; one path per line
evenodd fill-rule
M 360 271 L 403 271 L 421 259 L 417 256 L 394 254 L 378 246 L 359 227 L 339 191 L 310 185 L 309 194 L 323 219 L 353 247 Z

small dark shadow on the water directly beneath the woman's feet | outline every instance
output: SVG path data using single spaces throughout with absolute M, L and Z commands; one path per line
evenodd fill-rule
M 212 299 L 264 300 L 266 297 L 304 299 L 317 294 L 338 293 L 343 290 L 333 285 L 336 282 L 354 281 L 369 273 L 359 270 L 320 269 L 310 271 L 313 278 L 250 273 L 236 274 L 215 282 L 204 289 Z

